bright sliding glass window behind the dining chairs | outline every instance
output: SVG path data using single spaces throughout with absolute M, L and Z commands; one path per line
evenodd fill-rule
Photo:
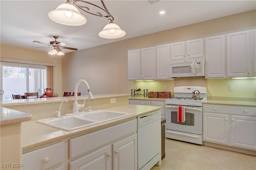
M 46 66 L 1 62 L 1 100 L 12 99 L 12 94 L 24 95 L 24 92 L 38 92 L 46 88 Z

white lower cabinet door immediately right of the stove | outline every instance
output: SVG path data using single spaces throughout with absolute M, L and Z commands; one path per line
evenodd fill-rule
M 204 141 L 228 145 L 228 115 L 204 113 Z

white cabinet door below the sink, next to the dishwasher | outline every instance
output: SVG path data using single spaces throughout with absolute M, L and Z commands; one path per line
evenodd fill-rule
M 113 144 L 113 170 L 137 169 L 137 134 Z

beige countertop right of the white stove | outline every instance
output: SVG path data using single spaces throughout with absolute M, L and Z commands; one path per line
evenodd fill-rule
M 220 105 L 234 105 L 234 106 L 254 106 L 256 102 L 253 101 L 236 101 L 236 100 L 206 100 L 203 104 L 220 104 Z

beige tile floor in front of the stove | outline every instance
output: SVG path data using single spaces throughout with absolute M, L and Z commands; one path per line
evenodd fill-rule
M 165 155 L 151 170 L 256 170 L 256 156 L 171 139 Z

